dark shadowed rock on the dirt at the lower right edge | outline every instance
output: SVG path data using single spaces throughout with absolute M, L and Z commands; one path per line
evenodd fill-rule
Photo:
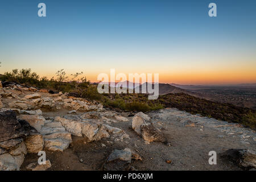
M 256 168 L 256 152 L 246 149 L 230 149 L 221 154 L 222 157 L 233 160 L 240 167 Z

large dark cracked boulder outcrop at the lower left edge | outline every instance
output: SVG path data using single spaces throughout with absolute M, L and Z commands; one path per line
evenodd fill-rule
M 19 170 L 27 152 L 27 141 L 32 134 L 39 134 L 27 121 L 16 119 L 15 111 L 0 112 L 0 171 Z M 25 139 L 25 142 L 24 142 Z

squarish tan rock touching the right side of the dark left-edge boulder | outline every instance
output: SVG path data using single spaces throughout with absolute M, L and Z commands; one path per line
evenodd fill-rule
M 43 136 L 40 134 L 33 134 L 26 137 L 24 143 L 26 144 L 28 153 L 38 153 L 42 151 L 44 147 Z

